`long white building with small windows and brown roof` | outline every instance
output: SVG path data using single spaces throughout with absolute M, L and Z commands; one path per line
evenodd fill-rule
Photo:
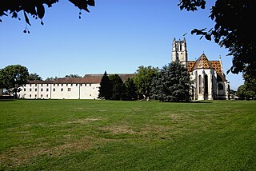
M 134 74 L 118 74 L 122 81 Z M 26 99 L 97 99 L 102 74 L 86 74 L 83 78 L 57 78 L 52 81 L 30 81 L 21 87 L 19 98 Z

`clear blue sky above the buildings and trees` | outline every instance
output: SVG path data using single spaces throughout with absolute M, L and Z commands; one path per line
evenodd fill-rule
M 214 42 L 191 35 L 194 28 L 214 26 L 208 10 L 179 10 L 178 0 L 95 0 L 90 14 L 68 1 L 46 9 L 40 20 L 26 22 L 2 17 L 0 23 L 0 68 L 20 64 L 43 79 L 66 74 L 134 73 L 138 66 L 162 68 L 170 63 L 174 38 L 185 35 L 189 60 L 206 54 L 209 60 L 222 57 L 226 73 L 232 57 Z M 228 74 L 231 89 L 242 85 L 242 74 Z

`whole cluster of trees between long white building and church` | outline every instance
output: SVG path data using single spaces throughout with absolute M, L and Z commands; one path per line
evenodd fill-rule
M 190 74 L 180 62 L 172 62 L 161 70 L 139 66 L 126 82 L 118 74 L 103 74 L 98 98 L 106 100 L 190 101 Z

